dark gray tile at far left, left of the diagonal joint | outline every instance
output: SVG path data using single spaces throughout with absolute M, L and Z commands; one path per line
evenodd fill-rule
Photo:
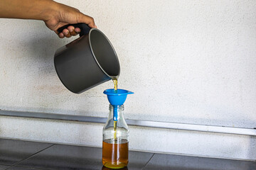
M 52 144 L 0 139 L 0 164 L 14 164 Z

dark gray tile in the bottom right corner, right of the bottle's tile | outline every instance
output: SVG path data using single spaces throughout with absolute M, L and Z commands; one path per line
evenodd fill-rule
M 256 162 L 242 162 L 229 159 L 187 157 L 170 154 L 154 154 L 145 168 L 175 170 L 251 170 L 256 169 Z

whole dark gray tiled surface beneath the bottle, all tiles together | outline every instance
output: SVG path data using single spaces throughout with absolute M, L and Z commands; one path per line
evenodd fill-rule
M 101 169 L 102 149 L 0 139 L 0 170 Z M 256 162 L 129 152 L 125 170 L 256 170 Z M 122 170 L 124 170 L 122 169 Z

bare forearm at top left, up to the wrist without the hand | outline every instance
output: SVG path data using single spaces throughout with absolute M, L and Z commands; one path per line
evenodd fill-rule
M 0 18 L 46 21 L 55 13 L 58 3 L 52 0 L 0 0 Z

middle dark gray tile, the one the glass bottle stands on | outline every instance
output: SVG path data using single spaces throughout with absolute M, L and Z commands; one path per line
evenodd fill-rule
M 146 152 L 129 152 L 127 169 L 143 169 L 153 154 Z M 18 166 L 41 169 L 97 169 L 102 168 L 102 148 L 54 145 L 24 160 Z

